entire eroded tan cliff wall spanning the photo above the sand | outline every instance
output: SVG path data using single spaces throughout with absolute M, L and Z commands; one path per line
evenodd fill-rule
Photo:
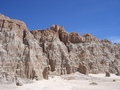
M 0 15 L 0 80 L 48 79 L 76 71 L 120 75 L 120 44 L 68 33 L 58 25 L 30 32 L 22 21 Z

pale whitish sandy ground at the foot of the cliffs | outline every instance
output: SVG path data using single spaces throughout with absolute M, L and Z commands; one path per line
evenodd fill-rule
M 90 85 L 90 83 L 97 85 Z M 23 86 L 0 85 L 0 90 L 120 90 L 120 76 L 111 74 L 111 77 L 105 77 L 105 74 L 75 73 L 34 81 Z

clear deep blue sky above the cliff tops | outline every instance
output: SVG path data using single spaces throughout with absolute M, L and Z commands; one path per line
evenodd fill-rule
M 120 0 L 0 0 L 0 13 L 24 21 L 29 30 L 58 24 L 120 43 Z

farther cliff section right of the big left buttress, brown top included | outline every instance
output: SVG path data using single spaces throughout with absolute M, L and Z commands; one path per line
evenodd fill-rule
M 47 30 L 31 31 L 47 54 L 51 71 L 57 75 L 81 73 L 119 73 L 120 45 L 99 40 L 90 34 L 67 33 L 53 25 Z

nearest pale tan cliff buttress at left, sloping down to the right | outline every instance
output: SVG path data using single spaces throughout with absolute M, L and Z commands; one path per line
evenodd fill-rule
M 21 21 L 0 15 L 0 78 L 41 79 L 48 58 Z

